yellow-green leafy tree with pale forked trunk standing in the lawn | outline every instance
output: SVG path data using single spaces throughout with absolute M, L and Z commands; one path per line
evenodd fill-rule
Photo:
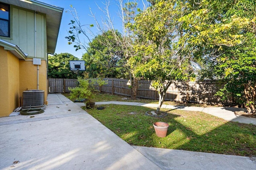
M 158 90 L 157 111 L 170 84 L 192 75 L 191 49 L 187 49 L 183 25 L 178 21 L 184 15 L 184 8 L 182 2 L 160 0 L 138 14 L 130 25 L 138 39 L 134 43 L 138 55 L 129 62 L 137 77 L 152 80 L 152 86 Z

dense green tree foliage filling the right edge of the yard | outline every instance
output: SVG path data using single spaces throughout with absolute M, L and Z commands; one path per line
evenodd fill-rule
M 218 95 L 245 104 L 256 113 L 256 1 L 188 1 L 190 13 L 180 18 L 188 45 L 201 59 L 201 79 L 223 82 Z

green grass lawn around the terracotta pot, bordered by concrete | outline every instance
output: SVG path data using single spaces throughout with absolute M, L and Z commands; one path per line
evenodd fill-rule
M 104 94 L 100 94 L 100 99 L 119 100 L 116 96 L 104 99 Z M 86 111 L 130 145 L 256 156 L 256 125 L 228 122 L 198 111 L 172 110 L 166 117 L 156 118 L 145 115 L 146 111 L 154 110 L 151 108 L 105 107 L 103 110 L 94 108 Z M 156 121 L 170 125 L 166 137 L 156 136 L 153 127 Z

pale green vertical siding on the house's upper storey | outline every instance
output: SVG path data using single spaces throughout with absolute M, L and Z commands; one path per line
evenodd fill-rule
M 11 39 L 5 39 L 18 45 L 28 57 L 35 57 L 35 18 L 34 12 L 20 8 L 11 8 Z M 46 59 L 46 16 L 36 14 L 36 57 Z

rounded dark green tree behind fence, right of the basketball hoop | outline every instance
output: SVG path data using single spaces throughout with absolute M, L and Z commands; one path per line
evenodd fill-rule
M 86 70 L 90 78 L 124 76 L 124 62 L 122 47 L 116 41 L 116 36 L 122 35 L 117 30 L 108 30 L 97 35 L 90 43 L 82 59 L 86 61 Z

